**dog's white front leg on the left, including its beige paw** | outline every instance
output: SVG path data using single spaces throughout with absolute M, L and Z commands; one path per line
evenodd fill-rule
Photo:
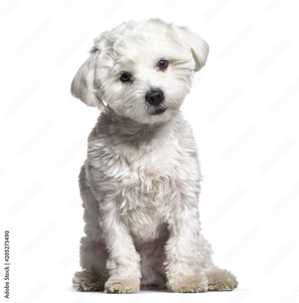
M 138 293 L 141 278 L 140 257 L 129 228 L 122 221 L 117 204 L 112 200 L 100 206 L 100 213 L 100 224 L 109 252 L 106 263 L 109 278 L 105 283 L 104 292 Z

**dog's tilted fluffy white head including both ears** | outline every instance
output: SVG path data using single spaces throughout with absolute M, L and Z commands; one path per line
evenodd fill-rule
M 189 28 L 160 19 L 124 22 L 95 38 L 71 92 L 137 122 L 164 122 L 180 108 L 207 56 L 207 43 Z

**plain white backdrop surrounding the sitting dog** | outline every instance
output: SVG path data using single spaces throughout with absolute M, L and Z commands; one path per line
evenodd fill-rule
M 273 8 L 271 0 L 122 0 L 112 8 L 114 3 L 1 2 L 1 241 L 9 230 L 10 300 L 297 302 L 298 2 L 276 0 Z M 239 287 L 191 296 L 79 293 L 71 286 L 83 235 L 77 175 L 99 113 L 70 96 L 70 83 L 100 32 L 156 16 L 189 26 L 210 45 L 183 111 L 205 178 L 203 234 L 212 243 L 215 264 L 232 271 Z M 240 94 L 232 95 L 237 89 Z M 235 97 L 230 103 L 229 96 Z M 24 145 L 29 148 L 22 152 Z M 223 158 L 226 151 L 229 157 Z M 68 161 L 59 165 L 63 159 Z M 27 245 L 33 248 L 26 252 Z M 1 296 L 3 274 L 0 269 Z

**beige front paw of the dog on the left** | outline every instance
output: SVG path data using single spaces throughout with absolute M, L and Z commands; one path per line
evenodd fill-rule
M 111 277 L 105 283 L 106 294 L 136 294 L 139 292 L 140 279 L 137 277 Z

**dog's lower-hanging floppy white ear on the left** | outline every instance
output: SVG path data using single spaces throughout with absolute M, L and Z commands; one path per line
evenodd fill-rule
M 79 68 L 70 85 L 70 92 L 75 98 L 80 99 L 86 105 L 102 109 L 105 108 L 105 104 L 102 98 L 93 91 L 99 51 L 95 47 L 90 50 L 89 58 Z

